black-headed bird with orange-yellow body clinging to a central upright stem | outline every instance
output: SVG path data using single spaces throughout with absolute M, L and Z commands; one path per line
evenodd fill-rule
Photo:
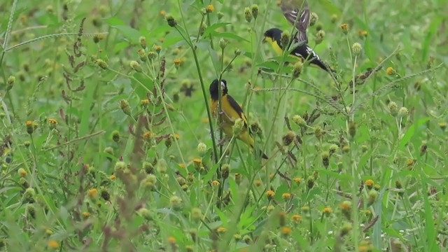
M 219 106 L 219 90 L 218 88 L 221 87 L 221 109 L 222 111 L 218 111 Z M 247 118 L 246 115 L 244 115 L 243 109 L 241 109 L 241 106 L 233 99 L 230 94 L 228 94 L 228 88 L 227 88 L 227 81 L 221 80 L 221 83 L 219 83 L 219 80 L 215 79 L 210 84 L 209 87 L 210 92 L 210 109 L 213 113 L 214 117 L 217 117 L 219 113 L 221 113 L 221 116 L 219 117 L 219 127 L 223 132 L 228 136 L 232 137 L 233 135 L 233 125 L 235 125 L 235 121 L 237 119 L 241 119 L 241 121 L 244 123 L 241 132 L 235 136 L 237 139 L 244 142 L 244 144 L 247 144 L 248 146 L 253 149 L 255 140 L 253 139 L 253 134 L 251 134 L 251 130 L 247 126 Z M 265 153 L 261 153 L 262 158 L 268 159 L 267 155 Z

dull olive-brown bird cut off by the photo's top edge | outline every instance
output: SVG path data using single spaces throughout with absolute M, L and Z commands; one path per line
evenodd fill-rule
M 309 7 L 306 0 L 282 0 L 281 11 L 297 29 L 297 41 L 308 43 L 307 28 L 309 25 Z M 297 15 L 299 16 L 297 18 Z

